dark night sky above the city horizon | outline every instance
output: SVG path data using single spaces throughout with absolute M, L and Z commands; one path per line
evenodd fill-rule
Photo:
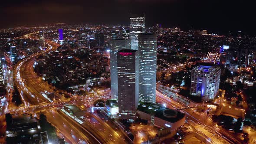
M 145 13 L 146 26 L 180 26 L 256 34 L 255 0 L 1 0 L 0 27 L 51 23 L 129 24 Z

